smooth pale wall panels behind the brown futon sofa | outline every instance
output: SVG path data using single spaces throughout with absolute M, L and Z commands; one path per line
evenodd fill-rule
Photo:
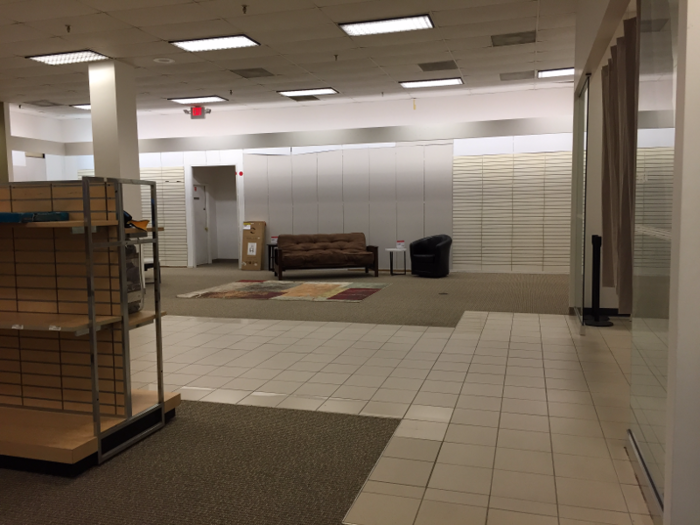
M 246 220 L 265 221 L 268 240 L 362 232 L 388 268 L 397 240 L 452 235 L 451 141 L 328 149 L 245 153 Z

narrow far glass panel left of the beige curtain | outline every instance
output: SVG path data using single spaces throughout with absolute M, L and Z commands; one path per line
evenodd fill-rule
M 574 279 L 574 310 L 583 329 L 586 290 L 586 171 L 588 167 L 589 82 L 587 77 L 576 99 L 576 131 L 573 179 L 574 248 L 572 276 Z

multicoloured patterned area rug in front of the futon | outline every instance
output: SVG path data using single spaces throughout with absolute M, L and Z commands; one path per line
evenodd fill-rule
M 178 295 L 181 299 L 272 299 L 275 301 L 335 301 L 359 303 L 388 284 L 237 281 Z

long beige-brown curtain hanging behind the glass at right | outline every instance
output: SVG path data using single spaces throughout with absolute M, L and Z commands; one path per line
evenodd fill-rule
M 639 36 L 626 20 L 603 68 L 603 286 L 614 286 L 619 312 L 632 313 L 634 196 L 637 168 Z

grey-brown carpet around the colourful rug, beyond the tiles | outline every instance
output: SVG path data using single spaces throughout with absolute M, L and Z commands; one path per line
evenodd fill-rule
M 569 311 L 568 275 L 453 273 L 444 279 L 425 279 L 345 270 L 285 274 L 290 281 L 391 284 L 361 303 L 177 297 L 242 279 L 275 279 L 271 272 L 244 272 L 232 263 L 164 268 L 162 275 L 162 305 L 170 315 L 454 327 L 467 310 L 561 315 Z M 151 286 L 147 300 L 152 308 Z

